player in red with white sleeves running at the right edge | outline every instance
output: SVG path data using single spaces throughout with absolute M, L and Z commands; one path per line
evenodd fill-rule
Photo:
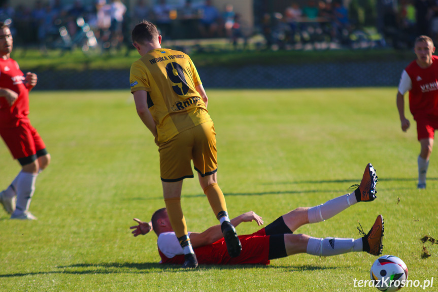
M 420 36 L 415 40 L 417 59 L 401 74 L 397 92 L 397 109 L 401 129 L 406 132 L 410 121 L 405 117 L 403 96 L 409 91 L 409 107 L 417 121 L 417 137 L 421 145 L 418 156 L 418 188 L 426 188 L 426 173 L 432 153 L 433 137 L 438 128 L 438 57 L 433 56 L 432 39 Z

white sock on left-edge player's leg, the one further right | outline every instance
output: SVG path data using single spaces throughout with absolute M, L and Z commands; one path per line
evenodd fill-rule
M 38 174 L 21 172 L 17 181 L 17 203 L 14 215 L 19 215 L 29 209 L 30 201 L 35 191 L 35 181 Z

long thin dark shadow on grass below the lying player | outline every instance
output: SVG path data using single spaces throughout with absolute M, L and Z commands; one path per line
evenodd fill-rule
M 57 267 L 59 270 L 47 272 L 29 272 L 15 274 L 0 274 L 0 278 L 24 277 L 33 275 L 50 275 L 50 274 L 123 274 L 123 273 L 162 273 L 162 272 L 196 272 L 207 270 L 248 270 L 248 269 L 282 269 L 287 272 L 292 271 L 319 271 L 319 270 L 334 270 L 337 267 L 323 266 L 262 266 L 262 265 L 200 265 L 196 270 L 185 270 L 179 265 L 162 265 L 158 263 L 99 263 L 99 264 L 74 264 L 70 266 Z

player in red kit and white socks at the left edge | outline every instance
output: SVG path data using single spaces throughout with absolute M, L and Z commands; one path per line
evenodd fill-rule
M 38 173 L 50 163 L 50 154 L 29 118 L 29 91 L 37 85 L 37 75 L 25 76 L 10 58 L 11 30 L 0 22 L 0 136 L 18 160 L 22 170 L 11 185 L 0 192 L 0 204 L 11 219 L 37 219 L 29 212 Z M 16 202 L 15 202 L 16 197 Z

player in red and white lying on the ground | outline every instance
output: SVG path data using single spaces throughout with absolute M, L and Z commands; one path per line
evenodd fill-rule
M 300 226 L 321 222 L 342 212 L 357 202 L 369 202 L 376 199 L 376 171 L 371 164 L 366 166 L 359 187 L 350 194 L 330 200 L 311 208 L 296 208 L 279 217 L 273 223 L 251 235 L 241 235 L 242 252 L 238 257 L 230 257 L 222 237 L 220 225 L 212 226 L 203 233 L 189 233 L 199 264 L 268 265 L 269 260 L 296 253 L 309 253 L 330 256 L 351 251 L 366 251 L 373 255 L 382 253 L 383 218 L 379 215 L 368 234 L 356 240 L 352 238 L 314 238 L 305 234 L 293 234 Z M 150 222 L 134 219 L 139 225 L 132 226 L 132 234 L 145 235 L 154 230 L 158 236 L 158 252 L 161 264 L 183 264 L 184 254 L 167 216 L 165 208 L 157 210 Z M 231 220 L 234 226 L 242 222 L 255 220 L 260 226 L 262 217 L 247 212 Z

